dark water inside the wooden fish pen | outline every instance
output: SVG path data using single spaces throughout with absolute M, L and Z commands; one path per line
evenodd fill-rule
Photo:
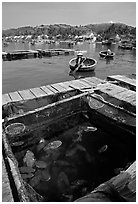
M 45 162 L 47 167 L 33 166 L 33 177 L 25 180 L 44 196 L 45 201 L 66 202 L 84 196 L 115 176 L 115 169 L 124 167 L 129 161 L 128 146 L 124 142 L 83 117 L 75 127 L 45 141 L 49 144 L 57 140 L 62 144 L 56 149 L 40 150 L 39 144 L 29 148 L 36 160 Z M 19 167 L 25 165 L 23 158 L 27 150 L 15 154 Z

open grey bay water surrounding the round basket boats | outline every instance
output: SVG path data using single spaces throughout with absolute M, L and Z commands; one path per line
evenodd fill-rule
M 7 47 L 3 47 L 3 51 L 47 48 L 59 48 L 59 45 L 38 44 L 32 46 L 28 43 L 11 43 Z M 136 72 L 136 51 L 118 49 L 117 44 L 113 44 L 110 47 L 116 54 L 114 60 L 111 61 L 106 61 L 99 57 L 99 51 L 107 49 L 107 46 L 103 46 L 99 43 L 90 44 L 85 42 L 73 47 L 64 46 L 62 48 L 87 51 L 87 53 L 84 53 L 85 56 L 97 60 L 95 71 L 75 73 L 74 76 L 70 75 L 69 60 L 72 59 L 74 55 L 4 61 L 2 64 L 2 92 L 8 93 L 29 89 L 80 77 L 96 76 L 105 79 L 109 75 L 127 75 Z

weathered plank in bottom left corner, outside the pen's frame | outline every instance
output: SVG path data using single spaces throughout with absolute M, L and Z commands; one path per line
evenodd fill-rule
M 2 202 L 14 202 L 3 157 L 2 157 Z

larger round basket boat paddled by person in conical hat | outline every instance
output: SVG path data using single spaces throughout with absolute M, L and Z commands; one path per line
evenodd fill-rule
M 77 71 L 94 71 L 96 68 L 97 61 L 93 58 L 83 58 L 83 65 L 79 67 Z M 76 69 L 76 58 L 73 58 L 69 61 L 69 66 L 72 71 Z

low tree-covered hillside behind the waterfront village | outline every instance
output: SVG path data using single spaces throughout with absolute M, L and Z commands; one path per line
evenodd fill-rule
M 19 28 L 12 28 L 2 31 L 2 36 L 15 36 L 15 35 L 48 35 L 50 37 L 61 35 L 63 39 L 68 38 L 69 35 L 84 35 L 89 32 L 100 34 L 103 38 L 114 37 L 119 35 L 133 35 L 136 36 L 136 28 L 122 23 L 102 23 L 102 24 L 89 24 L 85 26 L 71 26 L 66 24 L 54 25 L 40 25 L 40 26 L 25 26 Z

